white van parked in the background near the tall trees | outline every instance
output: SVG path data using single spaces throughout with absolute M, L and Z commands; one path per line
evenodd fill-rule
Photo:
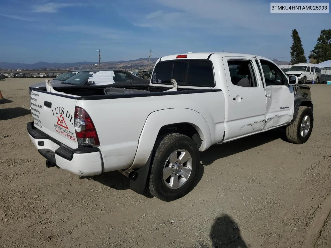
M 315 67 L 315 64 L 311 63 L 295 64 L 285 73 L 286 75 L 297 76 L 299 82 L 302 84 L 307 82 L 311 83 L 313 80 L 315 81 L 315 84 L 318 84 L 321 77 L 321 69 L 319 67 Z

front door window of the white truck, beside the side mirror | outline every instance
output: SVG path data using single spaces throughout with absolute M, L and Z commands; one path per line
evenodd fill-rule
M 266 86 L 286 85 L 283 74 L 277 65 L 274 65 L 273 63 L 266 60 L 260 60 L 260 62 L 262 65 Z

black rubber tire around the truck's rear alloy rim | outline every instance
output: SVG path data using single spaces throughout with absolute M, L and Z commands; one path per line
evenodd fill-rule
M 197 163 L 200 162 L 200 154 L 195 142 L 185 135 L 172 133 L 163 137 L 157 141 L 155 146 L 147 187 L 149 192 L 160 200 L 173 201 L 183 197 L 191 190 L 196 177 Z M 170 154 L 178 149 L 185 149 L 190 153 L 192 159 L 191 174 L 182 186 L 172 189 L 166 186 L 163 170 Z

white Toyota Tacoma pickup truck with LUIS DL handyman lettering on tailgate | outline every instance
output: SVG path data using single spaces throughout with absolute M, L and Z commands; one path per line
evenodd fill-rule
M 54 90 L 32 90 L 27 124 L 46 166 L 79 176 L 118 170 L 132 190 L 164 201 L 189 192 L 199 151 L 211 145 L 278 127 L 303 144 L 313 128 L 310 87 L 255 55 L 170 55 L 149 85 Z

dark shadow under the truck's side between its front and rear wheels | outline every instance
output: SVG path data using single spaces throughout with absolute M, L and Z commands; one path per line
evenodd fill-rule
M 203 165 L 211 165 L 217 159 L 228 157 L 277 139 L 286 140 L 284 128 L 276 128 L 224 144 L 213 145 L 200 153 L 201 162 Z

